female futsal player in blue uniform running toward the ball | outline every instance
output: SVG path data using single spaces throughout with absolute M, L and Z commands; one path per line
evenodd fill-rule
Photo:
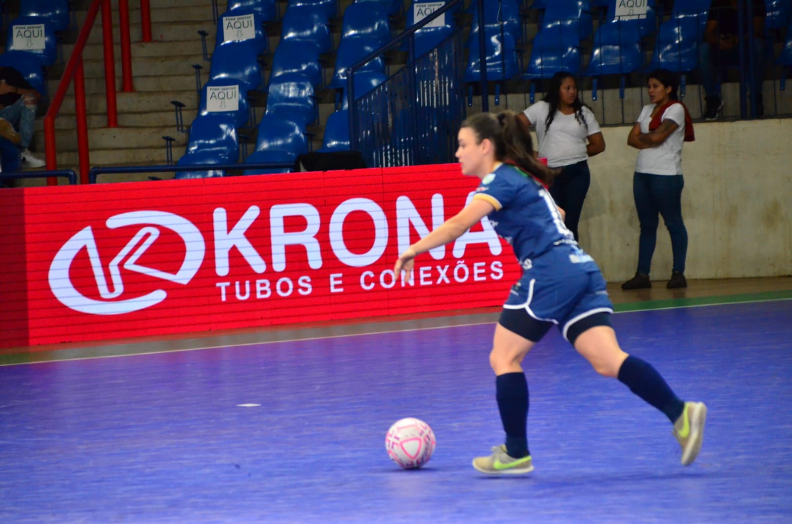
M 668 416 L 682 446 L 683 465 L 701 449 L 706 406 L 683 402 L 649 363 L 627 355 L 611 328 L 613 306 L 605 280 L 564 226 L 546 187 L 556 170 L 534 158 L 531 135 L 514 112 L 480 113 L 462 123 L 456 158 L 465 175 L 480 178 L 474 199 L 459 214 L 409 246 L 394 272 L 410 274 L 420 253 L 454 241 L 485 216 L 512 245 L 524 273 L 512 286 L 495 328 L 489 363 L 496 375 L 497 404 L 505 445 L 475 458 L 482 473 L 529 473 L 526 423 L 528 389 L 521 363 L 552 325 L 597 373 L 619 378 L 644 401 Z

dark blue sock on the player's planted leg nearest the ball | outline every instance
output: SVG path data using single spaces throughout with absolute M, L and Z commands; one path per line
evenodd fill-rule
M 528 418 L 528 383 L 525 374 L 507 373 L 495 378 L 497 408 L 506 431 L 506 453 L 512 458 L 528 455 L 525 426 Z

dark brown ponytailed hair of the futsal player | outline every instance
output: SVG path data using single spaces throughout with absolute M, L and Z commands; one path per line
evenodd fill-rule
M 497 161 L 516 165 L 547 186 L 553 184 L 554 178 L 561 173 L 560 169 L 551 169 L 536 160 L 531 131 L 513 111 L 501 111 L 497 115 L 478 113 L 468 117 L 462 127 L 469 127 L 474 132 L 476 143 L 484 139 L 493 142 Z

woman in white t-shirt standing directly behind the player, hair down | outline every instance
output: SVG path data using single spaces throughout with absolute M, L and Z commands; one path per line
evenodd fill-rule
M 536 127 L 539 157 L 547 158 L 550 167 L 563 168 L 550 186 L 550 195 L 565 211 L 564 223 L 577 241 L 577 222 L 591 183 L 587 159 L 605 150 L 600 123 L 577 96 L 577 82 L 566 71 L 554 74 L 544 100 L 517 118 Z

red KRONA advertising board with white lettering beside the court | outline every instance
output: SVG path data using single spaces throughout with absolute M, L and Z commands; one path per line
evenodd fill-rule
M 3 190 L 0 347 L 497 306 L 519 268 L 486 220 L 392 271 L 477 184 L 451 164 Z

